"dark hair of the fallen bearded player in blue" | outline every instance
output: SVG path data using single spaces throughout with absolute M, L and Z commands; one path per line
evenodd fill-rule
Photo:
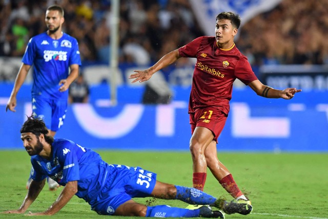
M 27 121 L 20 128 L 20 133 L 32 132 L 37 137 L 40 134 L 45 135 L 45 140 L 50 145 L 54 142 L 54 139 L 51 135 L 48 135 L 49 131 L 46 127 L 45 122 L 41 118 L 35 118 L 33 115 L 27 116 Z

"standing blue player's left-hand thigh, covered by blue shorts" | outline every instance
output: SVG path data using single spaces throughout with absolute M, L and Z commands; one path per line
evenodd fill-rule
M 32 113 L 35 117 L 41 118 L 45 122 L 47 129 L 51 129 L 52 107 L 49 99 L 32 96 Z

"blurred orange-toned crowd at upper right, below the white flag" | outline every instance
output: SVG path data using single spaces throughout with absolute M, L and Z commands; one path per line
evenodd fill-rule
M 253 53 L 257 65 L 321 65 L 327 28 L 328 0 L 283 0 L 244 24 L 236 44 Z

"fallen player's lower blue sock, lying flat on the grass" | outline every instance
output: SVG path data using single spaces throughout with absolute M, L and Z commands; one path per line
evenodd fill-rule
M 156 205 L 147 207 L 146 217 L 199 217 L 199 209 L 170 207 L 168 205 Z

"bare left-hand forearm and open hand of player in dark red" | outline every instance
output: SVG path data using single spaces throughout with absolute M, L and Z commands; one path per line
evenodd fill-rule
M 181 56 L 179 54 L 179 51 L 177 49 L 173 50 L 168 54 L 164 55 L 163 57 L 161 57 L 161 59 L 159 59 L 159 61 L 149 69 L 142 70 L 142 71 L 134 70 L 134 72 L 136 73 L 131 74 L 129 76 L 129 79 L 136 78 L 134 79 L 134 81 L 132 81 L 132 83 L 135 83 L 137 81 L 139 81 L 140 83 L 148 81 L 156 71 L 159 71 L 160 69 L 171 65 L 172 63 L 177 61 L 177 59 L 180 57 Z

